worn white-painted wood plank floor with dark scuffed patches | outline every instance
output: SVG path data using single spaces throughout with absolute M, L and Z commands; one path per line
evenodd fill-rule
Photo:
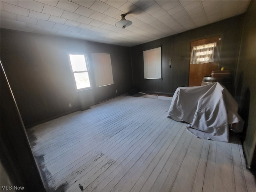
M 196 138 L 170 101 L 120 96 L 27 130 L 48 192 L 256 191 L 236 135 Z

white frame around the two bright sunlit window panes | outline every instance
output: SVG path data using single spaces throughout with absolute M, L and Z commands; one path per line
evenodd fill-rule
M 71 64 L 71 60 L 70 60 L 70 55 L 83 55 L 83 56 L 84 56 L 84 60 L 85 60 L 86 69 L 87 69 L 87 70 L 85 70 L 85 71 L 73 71 L 72 64 Z M 85 54 L 85 53 L 68 53 L 68 60 L 69 60 L 69 65 L 70 65 L 70 71 L 71 71 L 71 73 L 72 73 L 73 84 L 74 84 L 74 87 L 75 87 L 76 91 L 82 91 L 82 90 L 87 90 L 87 89 L 93 88 L 93 85 L 92 85 L 92 77 L 91 77 L 91 69 L 90 69 L 89 59 L 88 59 L 87 54 Z M 78 89 L 78 88 L 77 88 L 77 84 L 76 84 L 76 78 L 75 78 L 75 75 L 74 75 L 74 74 L 76 74 L 76 73 L 83 73 L 83 72 L 88 73 L 88 78 L 89 78 L 89 82 L 90 82 L 90 87 L 85 87 L 85 88 L 80 88 L 80 89 Z

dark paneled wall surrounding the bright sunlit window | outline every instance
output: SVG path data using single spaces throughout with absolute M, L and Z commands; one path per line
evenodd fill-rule
M 91 53 L 110 53 L 114 84 L 77 92 L 70 53 L 88 54 L 89 59 Z M 1 29 L 1 61 L 26 126 L 92 106 L 132 88 L 130 48 L 124 46 Z

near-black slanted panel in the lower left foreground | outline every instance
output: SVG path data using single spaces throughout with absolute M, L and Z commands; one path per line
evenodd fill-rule
M 8 81 L 1 67 L 1 186 L 9 188 L 9 183 L 2 182 L 8 177 L 14 186 L 24 187 L 27 192 L 45 191 L 38 171 L 24 124 L 21 120 L 16 102 L 12 96 Z M 2 191 L 2 187 L 1 187 Z M 5 190 L 4 190 L 5 191 Z

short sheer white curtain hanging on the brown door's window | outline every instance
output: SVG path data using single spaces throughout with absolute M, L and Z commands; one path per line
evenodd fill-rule
M 217 42 L 193 46 L 190 64 L 218 62 L 219 52 Z

